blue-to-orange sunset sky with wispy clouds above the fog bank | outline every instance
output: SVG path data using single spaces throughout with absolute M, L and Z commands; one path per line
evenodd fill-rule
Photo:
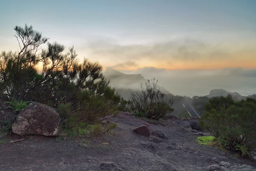
M 15 25 L 117 70 L 256 69 L 256 0 L 0 0 L 0 51 Z M 152 70 L 151 70 L 152 71 Z

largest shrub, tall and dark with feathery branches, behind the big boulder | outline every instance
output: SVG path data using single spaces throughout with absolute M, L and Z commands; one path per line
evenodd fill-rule
M 79 62 L 73 47 L 64 53 L 64 45 L 49 43 L 32 26 L 14 29 L 19 48 L 0 53 L 0 94 L 22 104 L 15 110 L 25 107 L 21 99 L 46 104 L 57 108 L 65 126 L 74 127 L 116 114 L 126 105 L 109 87 L 99 62 Z

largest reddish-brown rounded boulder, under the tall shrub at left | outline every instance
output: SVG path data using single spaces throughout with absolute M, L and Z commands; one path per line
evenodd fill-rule
M 52 107 L 32 102 L 23 109 L 12 125 L 17 135 L 58 136 L 61 118 Z

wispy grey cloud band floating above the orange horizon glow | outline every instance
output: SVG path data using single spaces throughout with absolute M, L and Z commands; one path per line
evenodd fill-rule
M 118 45 L 107 42 L 92 43 L 89 47 L 96 55 L 110 55 L 122 59 L 175 59 L 198 60 L 212 56 L 223 57 L 227 53 L 221 48 L 193 39 L 179 39 L 154 45 Z

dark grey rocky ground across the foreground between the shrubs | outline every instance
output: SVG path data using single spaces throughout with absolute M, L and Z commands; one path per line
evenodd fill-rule
M 207 135 L 189 126 L 190 121 L 168 119 L 159 123 L 120 112 L 105 118 L 117 127 L 107 135 L 90 138 L 32 135 L 0 139 L 1 171 L 253 171 L 255 163 L 238 159 L 215 147 L 199 145 Z M 146 123 L 145 123 L 146 122 Z M 149 137 L 133 132 L 148 124 Z M 156 131 L 157 130 L 157 131 Z M 158 134 L 158 133 L 159 134 Z M 163 133 L 164 136 L 161 134 Z M 157 137 L 159 136 L 159 137 Z

